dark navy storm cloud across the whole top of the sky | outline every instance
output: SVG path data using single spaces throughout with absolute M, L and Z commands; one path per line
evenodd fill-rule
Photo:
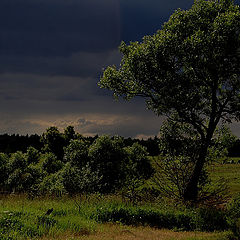
M 192 1 L 1 0 L 1 55 L 69 56 L 116 48 L 159 29 Z M 121 35 L 122 32 L 122 35 Z

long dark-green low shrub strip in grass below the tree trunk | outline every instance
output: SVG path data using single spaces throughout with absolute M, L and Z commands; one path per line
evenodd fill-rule
M 181 210 L 133 207 L 121 204 L 99 206 L 92 218 L 98 222 L 120 222 L 181 231 L 223 231 L 228 229 L 224 212 L 212 208 Z

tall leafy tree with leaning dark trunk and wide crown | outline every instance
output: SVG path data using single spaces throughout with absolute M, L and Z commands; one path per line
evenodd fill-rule
M 240 119 L 239 6 L 232 0 L 195 0 L 153 36 L 122 42 L 120 52 L 120 67 L 105 69 L 99 85 L 116 98 L 141 96 L 157 115 L 195 130 L 198 156 L 183 195 L 196 200 L 218 123 Z

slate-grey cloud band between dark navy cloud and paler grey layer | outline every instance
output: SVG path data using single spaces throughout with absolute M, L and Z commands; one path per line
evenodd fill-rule
M 117 49 L 96 53 L 76 52 L 65 57 L 0 55 L 0 73 L 96 77 L 103 67 L 118 65 L 120 58 Z

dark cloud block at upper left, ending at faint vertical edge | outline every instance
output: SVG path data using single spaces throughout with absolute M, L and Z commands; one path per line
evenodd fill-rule
M 0 53 L 68 56 L 114 48 L 119 43 L 116 4 L 110 0 L 1 0 Z

